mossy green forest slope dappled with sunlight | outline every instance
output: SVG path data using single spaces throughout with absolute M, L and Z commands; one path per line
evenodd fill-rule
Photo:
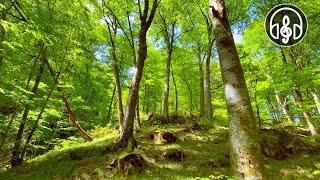
M 132 152 L 106 152 L 106 146 L 116 140 L 117 131 L 101 129 L 93 134 L 93 142 L 52 150 L 0 174 L 0 179 L 228 179 L 231 176 L 228 129 L 218 126 L 186 129 L 191 126 L 146 125 L 136 132 L 138 147 L 133 153 L 141 155 L 146 163 L 141 173 L 126 170 L 119 173 L 119 168 L 112 166 L 115 159 Z M 173 143 L 156 142 L 150 138 L 155 131 L 171 132 L 178 139 Z M 319 148 L 317 139 L 297 138 Z M 183 155 L 169 160 L 164 154 L 172 150 Z M 270 179 L 320 178 L 316 175 L 320 154 L 310 152 L 299 152 L 282 160 L 265 157 L 266 172 Z

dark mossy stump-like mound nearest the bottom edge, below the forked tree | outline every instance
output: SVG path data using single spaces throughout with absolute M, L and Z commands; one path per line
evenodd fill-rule
M 117 163 L 120 173 L 130 175 L 132 173 L 142 173 L 146 168 L 144 158 L 139 154 L 129 154 L 114 163 Z

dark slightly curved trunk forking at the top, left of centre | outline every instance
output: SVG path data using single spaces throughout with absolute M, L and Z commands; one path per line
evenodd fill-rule
M 151 23 L 154 19 L 155 12 L 159 5 L 160 0 L 153 0 L 152 9 L 149 12 L 149 0 L 144 1 L 144 9 L 142 10 L 140 1 L 139 5 L 139 14 L 140 14 L 140 33 L 139 33 L 139 50 L 138 50 L 138 59 L 135 65 L 135 73 L 133 75 L 129 96 L 127 99 L 126 114 L 123 122 L 123 131 L 120 133 L 120 137 L 117 143 L 119 148 L 126 148 L 129 144 L 129 141 L 133 143 L 132 147 L 135 147 L 135 139 L 133 137 L 133 124 L 134 124 L 134 115 L 135 107 L 138 99 L 138 92 L 140 81 L 143 75 L 144 63 L 147 58 L 148 46 L 147 46 L 147 33 L 151 26 Z M 149 14 L 149 17 L 148 17 Z

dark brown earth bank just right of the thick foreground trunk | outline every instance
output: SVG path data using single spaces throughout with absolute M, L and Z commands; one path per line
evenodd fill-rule
M 261 130 L 261 149 L 266 157 L 283 160 L 298 153 L 316 153 L 318 147 L 296 134 L 278 129 Z

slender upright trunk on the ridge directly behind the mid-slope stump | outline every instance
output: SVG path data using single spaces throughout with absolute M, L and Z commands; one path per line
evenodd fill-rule
M 172 60 L 172 46 L 169 45 L 167 50 L 166 76 L 163 89 L 162 115 L 165 122 L 169 121 L 169 90 L 170 90 L 170 68 Z

